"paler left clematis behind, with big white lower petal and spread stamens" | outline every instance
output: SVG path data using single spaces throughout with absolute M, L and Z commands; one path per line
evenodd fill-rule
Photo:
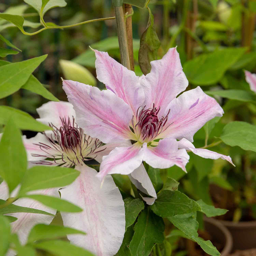
M 23 138 L 30 164 L 74 166 L 80 171 L 80 175 L 72 184 L 59 191 L 62 199 L 79 205 L 83 211 L 61 212 L 61 216 L 64 226 L 82 230 L 87 235 L 68 235 L 68 239 L 99 256 L 116 254 L 125 232 L 124 201 L 110 175 L 101 186 L 96 177 L 97 171 L 84 163 L 94 158 L 100 161 L 103 152 L 108 154 L 116 144 L 102 146 L 98 139 L 86 135 L 84 130 L 76 125 L 75 112 L 69 102 L 50 101 L 37 111 L 40 116 L 38 120 L 48 124 L 53 130 L 38 133 L 31 139 Z M 58 193 L 58 189 L 55 191 Z M 27 203 L 27 199 L 18 200 L 23 200 L 19 204 L 21 206 Z M 33 216 L 20 216 L 14 223 L 20 225 L 25 220 L 29 222 Z M 51 220 L 46 223 L 49 224 Z M 43 221 L 39 216 L 33 225 L 41 222 Z M 23 226 L 22 230 L 18 231 L 23 240 L 26 240 L 28 229 L 31 227 L 32 225 L 28 228 Z

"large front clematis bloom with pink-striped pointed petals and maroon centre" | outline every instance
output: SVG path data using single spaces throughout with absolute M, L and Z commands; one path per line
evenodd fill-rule
M 207 121 L 224 112 L 200 87 L 176 98 L 188 86 L 176 48 L 170 48 L 162 59 L 151 61 L 151 72 L 141 77 L 108 53 L 94 51 L 97 78 L 106 90 L 71 80 L 63 81 L 63 89 L 74 106 L 77 123 L 87 134 L 104 143 L 129 143 L 103 156 L 97 174 L 101 180 L 112 173 L 131 174 L 141 180 L 142 174 L 133 172 L 142 161 L 153 168 L 177 165 L 186 171 L 186 150 L 232 163 L 229 156 L 196 149 L 191 143 Z

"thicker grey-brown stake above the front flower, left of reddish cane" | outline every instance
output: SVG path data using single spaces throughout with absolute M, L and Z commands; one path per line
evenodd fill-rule
M 131 69 L 123 7 L 114 6 L 114 9 L 115 9 L 117 36 L 118 36 L 118 43 L 120 48 L 121 63 L 126 68 Z

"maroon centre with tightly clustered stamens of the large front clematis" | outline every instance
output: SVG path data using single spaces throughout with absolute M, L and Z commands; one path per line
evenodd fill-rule
M 137 134 L 138 140 L 152 141 L 163 131 L 170 110 L 166 116 L 158 118 L 160 106 L 155 107 L 155 104 L 153 104 L 153 108 L 145 109 L 145 107 L 146 106 L 142 108 L 142 106 L 140 106 L 138 108 L 136 113 L 137 124 L 135 126 L 134 116 L 132 116 L 132 128 L 134 133 Z

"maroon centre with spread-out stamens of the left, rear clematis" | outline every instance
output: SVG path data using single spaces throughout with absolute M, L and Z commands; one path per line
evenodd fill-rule
M 82 128 L 75 124 L 73 117 L 73 122 L 66 118 L 60 118 L 62 126 L 57 128 L 53 124 L 49 124 L 53 128 L 53 134 L 51 137 L 47 136 L 49 144 L 44 144 L 39 142 L 35 144 L 40 147 L 41 151 L 46 153 L 32 154 L 32 156 L 53 158 L 57 165 L 63 165 L 64 167 L 71 167 L 73 165 L 83 165 L 86 160 L 91 160 L 96 157 L 96 154 L 103 151 L 97 150 L 101 146 L 101 141 L 84 134 Z M 35 162 L 41 165 L 53 165 L 53 161 L 41 160 Z

